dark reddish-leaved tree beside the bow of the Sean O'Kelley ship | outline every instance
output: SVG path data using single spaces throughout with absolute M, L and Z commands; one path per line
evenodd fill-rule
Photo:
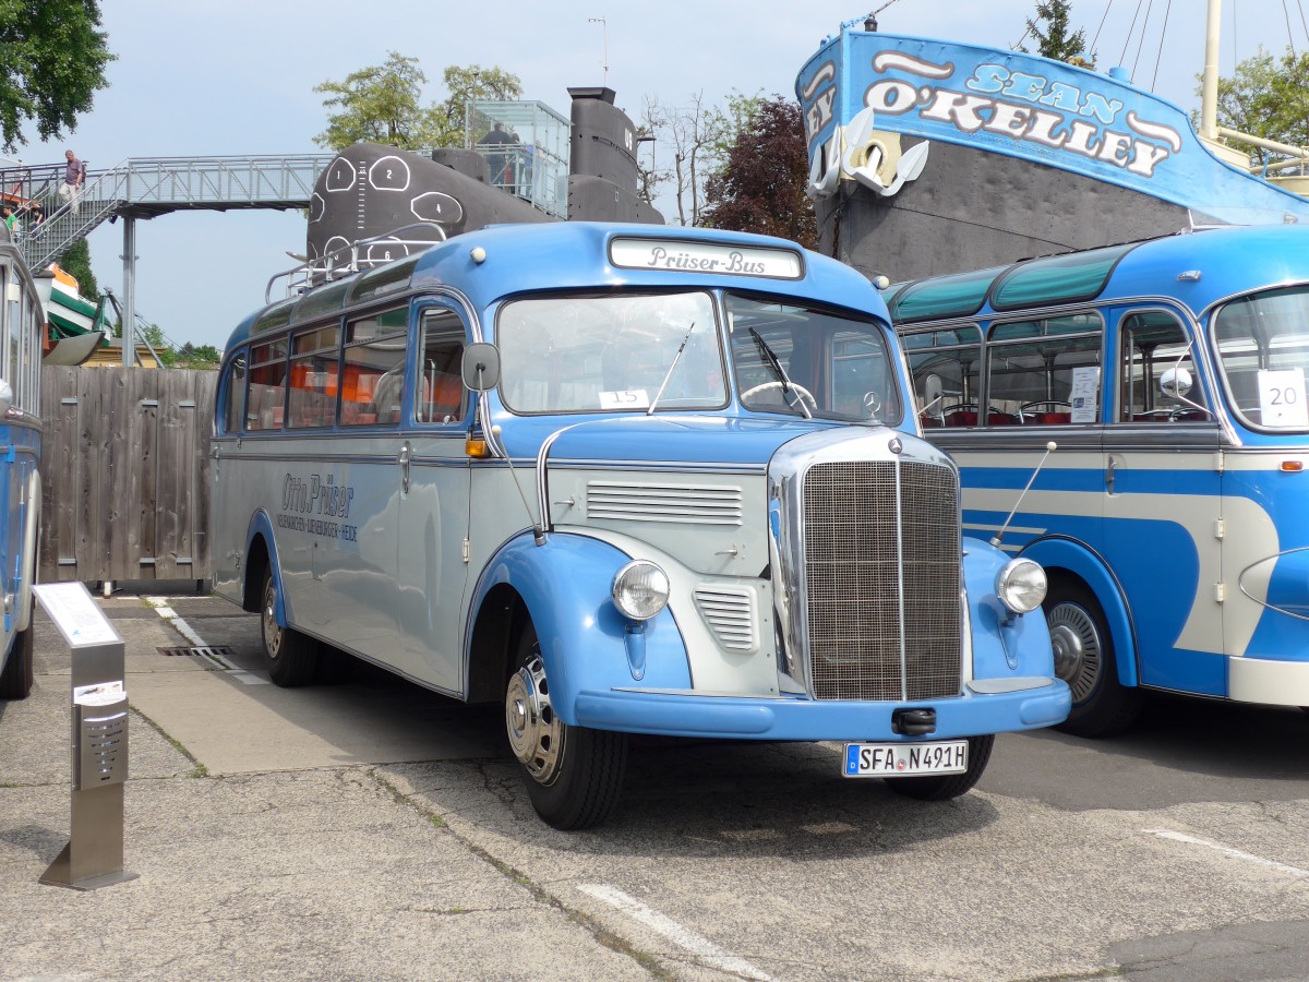
M 737 134 L 723 170 L 707 183 L 702 223 L 781 236 L 813 249 L 818 224 L 805 194 L 808 175 L 800 103 L 784 96 L 762 100 Z

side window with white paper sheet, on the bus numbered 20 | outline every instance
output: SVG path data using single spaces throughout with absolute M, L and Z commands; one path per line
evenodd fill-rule
M 987 423 L 1098 423 L 1102 338 L 1103 325 L 1094 313 L 994 325 L 987 344 Z

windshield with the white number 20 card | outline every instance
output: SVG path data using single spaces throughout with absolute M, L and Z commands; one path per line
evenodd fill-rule
M 1225 304 L 1213 318 L 1219 368 L 1237 415 L 1274 429 L 1309 429 L 1309 287 Z

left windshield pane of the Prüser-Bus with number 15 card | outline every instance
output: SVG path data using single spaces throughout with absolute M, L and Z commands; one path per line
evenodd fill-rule
M 500 310 L 496 339 L 500 393 L 514 412 L 726 406 L 708 293 L 513 300 Z

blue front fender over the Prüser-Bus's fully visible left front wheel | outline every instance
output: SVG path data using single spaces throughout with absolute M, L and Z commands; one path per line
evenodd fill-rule
M 577 694 L 613 689 L 690 689 L 691 669 L 681 631 L 665 609 L 643 630 L 614 606 L 614 573 L 631 562 L 619 549 L 586 536 L 551 533 L 542 546 L 531 533 L 507 542 L 487 563 L 470 605 L 470 626 L 493 587 L 522 598 L 537 628 L 550 681 L 550 702 L 576 725 Z M 471 640 L 471 630 L 465 631 Z M 465 643 L 465 664 L 471 652 Z

